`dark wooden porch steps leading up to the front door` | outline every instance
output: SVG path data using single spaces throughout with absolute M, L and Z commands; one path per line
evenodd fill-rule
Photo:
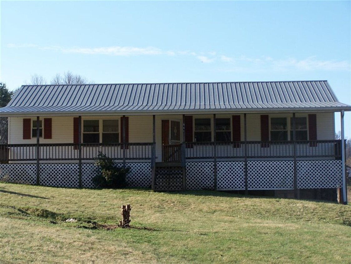
M 183 189 L 183 167 L 180 163 L 157 162 L 155 191 L 180 191 Z

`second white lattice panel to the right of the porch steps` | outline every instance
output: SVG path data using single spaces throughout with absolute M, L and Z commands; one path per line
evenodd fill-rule
M 243 161 L 217 162 L 217 190 L 245 190 Z

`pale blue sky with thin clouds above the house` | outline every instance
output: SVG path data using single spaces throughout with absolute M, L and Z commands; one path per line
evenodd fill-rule
M 0 5 L 0 80 L 9 89 L 68 70 L 95 83 L 328 80 L 351 104 L 350 1 Z

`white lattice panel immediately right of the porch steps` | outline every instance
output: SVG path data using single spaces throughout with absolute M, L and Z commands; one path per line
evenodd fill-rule
M 186 163 L 186 189 L 187 190 L 213 190 L 214 189 L 214 163 L 213 162 L 187 162 Z

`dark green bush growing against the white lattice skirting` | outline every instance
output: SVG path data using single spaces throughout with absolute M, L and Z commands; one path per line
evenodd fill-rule
M 93 177 L 93 183 L 102 188 L 123 188 L 126 186 L 126 175 L 130 168 L 116 168 L 112 158 L 99 151 L 95 165 L 100 167 L 98 174 Z

